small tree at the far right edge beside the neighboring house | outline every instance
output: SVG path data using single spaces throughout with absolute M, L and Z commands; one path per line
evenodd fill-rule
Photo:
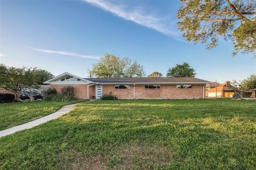
M 252 74 L 249 78 L 242 81 L 231 81 L 231 89 L 234 90 L 242 99 L 243 93 L 256 87 L 256 75 Z

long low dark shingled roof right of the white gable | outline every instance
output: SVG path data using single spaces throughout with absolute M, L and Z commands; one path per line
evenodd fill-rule
M 197 78 L 84 78 L 95 83 L 211 83 Z

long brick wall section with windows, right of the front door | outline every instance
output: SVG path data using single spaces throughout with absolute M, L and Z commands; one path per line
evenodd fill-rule
M 115 89 L 115 86 L 103 86 L 102 93 L 112 91 L 118 99 L 133 99 L 133 86 L 130 89 Z M 161 89 L 145 89 L 144 85 L 135 85 L 136 99 L 198 99 L 203 98 L 203 85 L 193 85 L 191 89 L 177 89 L 176 85 L 161 85 Z

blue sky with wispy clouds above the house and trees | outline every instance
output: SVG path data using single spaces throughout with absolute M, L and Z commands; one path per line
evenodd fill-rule
M 97 58 L 111 53 L 137 60 L 146 74 L 166 75 L 182 62 L 209 81 L 256 73 L 256 58 L 231 56 L 230 41 L 220 39 L 211 50 L 187 43 L 176 24 L 179 7 L 179 1 L 1 0 L 0 62 L 87 77 Z

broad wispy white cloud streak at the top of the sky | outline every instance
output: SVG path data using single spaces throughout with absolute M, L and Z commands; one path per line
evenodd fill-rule
M 173 21 L 167 21 L 166 17 L 157 17 L 153 14 L 147 14 L 145 12 L 142 12 L 141 9 L 137 10 L 127 10 L 124 5 L 117 5 L 114 3 L 110 3 L 107 1 L 101 1 L 101 0 L 82 0 L 83 2 L 87 2 L 91 5 L 97 6 L 102 8 L 103 10 L 106 10 L 108 12 L 114 13 L 117 16 L 133 21 L 135 23 L 138 23 L 140 25 L 143 25 L 147 28 L 154 29 L 158 32 L 162 32 L 165 35 L 178 35 L 178 31 L 175 30 L 173 25 Z M 165 19 L 163 19 L 165 18 Z

